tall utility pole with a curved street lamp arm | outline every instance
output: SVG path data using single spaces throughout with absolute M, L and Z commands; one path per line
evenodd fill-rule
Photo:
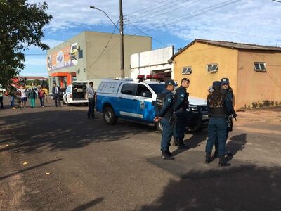
M 98 10 L 98 11 L 102 11 L 103 13 L 105 13 L 105 11 L 101 10 L 100 8 L 96 8 L 96 6 L 90 6 L 90 8 Z M 124 34 L 123 34 L 123 11 L 122 11 L 122 0 L 119 0 L 119 9 L 120 9 L 120 19 L 119 19 L 119 23 L 120 23 L 120 29 L 117 27 L 117 25 L 111 20 L 110 16 L 107 15 L 107 13 L 105 13 L 105 15 L 107 16 L 108 19 L 110 19 L 111 23 L 113 25 L 115 25 L 115 27 L 117 27 L 117 29 L 120 32 L 120 65 L 121 65 L 121 77 L 124 78 L 125 77 L 125 71 L 124 71 Z

